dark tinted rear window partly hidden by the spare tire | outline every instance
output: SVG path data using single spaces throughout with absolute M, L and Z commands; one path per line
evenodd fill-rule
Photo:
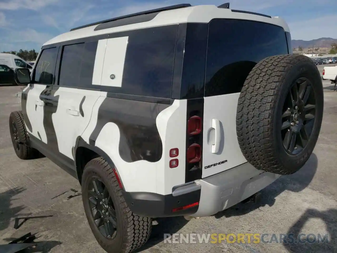
M 249 20 L 212 20 L 205 96 L 240 92 L 257 62 L 280 54 L 288 54 L 283 28 Z

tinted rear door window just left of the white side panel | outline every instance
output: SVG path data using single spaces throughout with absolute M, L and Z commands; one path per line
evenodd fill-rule
M 64 46 L 60 66 L 59 85 L 92 87 L 92 75 L 97 41 Z

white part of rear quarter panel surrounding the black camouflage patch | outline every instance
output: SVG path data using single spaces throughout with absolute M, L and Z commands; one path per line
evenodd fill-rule
M 109 99 L 109 98 L 105 98 Z M 94 107 L 91 122 L 97 122 L 99 99 Z M 136 108 L 135 108 L 136 113 Z M 153 192 L 159 194 L 171 194 L 172 188 L 185 183 L 185 152 L 177 158 L 179 166 L 171 169 L 169 161 L 169 150 L 171 148 L 186 148 L 186 100 L 175 100 L 172 106 L 159 113 L 156 125 L 163 143 L 161 159 L 156 163 L 145 160 L 132 163 L 125 162 L 119 156 L 120 130 L 113 122 L 106 123 L 100 131 L 95 146 L 103 150 L 114 162 L 122 179 L 125 190 L 128 192 Z M 88 141 L 88 135 L 93 129 L 90 123 L 82 135 Z M 177 131 L 179 129 L 179 131 Z

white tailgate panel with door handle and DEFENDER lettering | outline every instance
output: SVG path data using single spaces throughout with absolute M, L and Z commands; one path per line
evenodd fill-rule
M 233 93 L 204 98 L 203 178 L 247 162 L 236 135 L 236 109 L 239 96 L 240 93 Z M 219 126 L 215 126 L 214 123 L 212 125 L 216 120 L 219 121 Z M 212 145 L 218 149 L 217 152 L 214 152 L 216 150 L 212 152 Z M 222 161 L 226 162 L 213 166 Z M 209 165 L 212 167 L 205 168 Z

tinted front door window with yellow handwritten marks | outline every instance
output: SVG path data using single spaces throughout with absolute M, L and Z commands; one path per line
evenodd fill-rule
M 34 70 L 34 83 L 53 84 L 58 48 L 48 48 L 41 52 Z

